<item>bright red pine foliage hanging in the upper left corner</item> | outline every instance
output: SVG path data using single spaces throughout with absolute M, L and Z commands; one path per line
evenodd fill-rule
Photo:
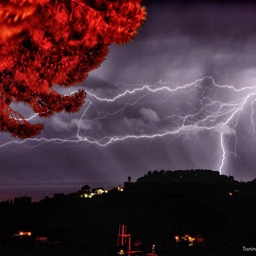
M 2 0 L 0 3 L 0 130 L 30 138 L 42 130 L 10 103 L 42 117 L 78 111 L 84 90 L 63 96 L 106 58 L 112 43 L 129 42 L 146 19 L 141 0 Z

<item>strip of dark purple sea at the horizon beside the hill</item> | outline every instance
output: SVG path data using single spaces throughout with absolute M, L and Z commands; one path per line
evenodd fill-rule
M 0 202 L 15 197 L 30 197 L 33 202 L 38 202 L 46 196 L 52 198 L 54 194 L 63 193 L 70 194 L 78 192 L 82 186 L 88 184 L 91 188 L 104 187 L 108 190 L 113 189 L 122 182 L 86 182 L 86 183 L 65 183 L 65 184 L 15 184 L 0 185 Z

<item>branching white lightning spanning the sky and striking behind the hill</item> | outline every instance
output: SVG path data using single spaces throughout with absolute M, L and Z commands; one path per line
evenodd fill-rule
M 2 143 L 0 148 L 10 145 L 30 145 L 30 147 L 43 146 L 46 143 L 85 143 L 88 146 L 110 146 L 117 142 L 125 142 L 127 140 L 152 140 L 166 137 L 188 136 L 188 134 L 199 134 L 200 131 L 208 131 L 219 138 L 220 154 L 218 170 L 222 174 L 228 153 L 233 153 L 236 158 L 238 136 L 236 129 L 242 111 L 246 109 L 247 103 L 250 102 L 250 131 L 255 134 L 256 124 L 254 122 L 254 105 L 256 102 L 256 86 L 234 86 L 218 85 L 212 77 L 204 77 L 184 85 L 175 82 L 159 81 L 154 85 L 135 85 L 133 89 L 123 90 L 120 94 L 113 97 L 102 97 L 87 91 L 87 99 L 84 110 L 80 114 L 80 118 L 75 123 L 76 134 L 71 138 L 29 138 L 23 141 L 13 140 Z M 127 86 L 126 86 L 127 88 Z M 122 90 L 118 88 L 118 90 Z M 72 94 L 72 93 L 71 93 Z M 228 97 L 223 97 L 228 95 Z M 102 122 L 114 116 L 118 116 L 125 112 L 130 106 L 141 106 L 147 98 L 154 97 L 154 106 L 168 104 L 173 99 L 177 103 L 177 107 L 170 108 L 169 114 L 163 114 L 160 118 L 159 126 L 162 128 L 158 132 L 141 131 L 139 134 L 117 134 L 110 136 L 102 136 L 95 138 L 90 136 L 90 128 L 85 129 L 84 126 L 94 126 L 97 122 Z M 227 99 L 228 98 L 228 99 Z M 146 102 L 148 103 L 148 102 Z M 146 104 L 143 103 L 143 104 Z M 107 110 L 113 107 L 115 110 Z M 150 104 L 148 104 L 151 106 Z M 172 105 L 174 105 L 172 103 Z M 102 110 L 98 110 L 98 107 Z M 93 111 L 94 110 L 94 111 Z M 96 114 L 91 114 L 95 112 Z M 31 120 L 36 118 L 38 114 L 26 118 Z M 93 118 L 90 118 L 93 116 Z M 88 134 L 89 133 L 89 134 Z M 199 136 L 199 135 L 198 135 Z M 231 136 L 235 138 L 234 152 L 228 151 L 229 139 Z

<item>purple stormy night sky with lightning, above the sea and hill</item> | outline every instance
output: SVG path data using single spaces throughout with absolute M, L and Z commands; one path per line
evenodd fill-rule
M 80 112 L 43 120 L 34 140 L 0 134 L 0 182 L 134 181 L 162 169 L 256 178 L 256 4 L 242 2 L 145 1 L 138 37 L 76 86 L 89 93 Z

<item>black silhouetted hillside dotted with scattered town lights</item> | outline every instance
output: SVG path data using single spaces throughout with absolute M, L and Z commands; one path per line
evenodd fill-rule
M 113 190 L 85 185 L 40 202 L 26 197 L 1 202 L 0 250 L 3 255 L 242 255 L 256 246 L 255 199 L 256 180 L 238 182 L 212 170 L 154 170 Z

